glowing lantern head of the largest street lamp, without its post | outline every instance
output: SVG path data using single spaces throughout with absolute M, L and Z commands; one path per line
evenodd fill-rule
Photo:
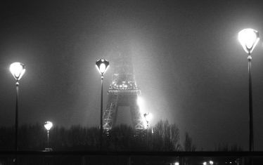
M 243 29 L 238 33 L 238 40 L 244 51 L 250 55 L 259 41 L 259 32 L 255 29 Z

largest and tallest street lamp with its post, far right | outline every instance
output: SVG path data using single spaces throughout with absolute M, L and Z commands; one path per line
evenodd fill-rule
M 238 33 L 238 40 L 245 53 L 248 53 L 248 88 L 249 88 L 249 115 L 250 115 L 250 151 L 254 150 L 253 110 L 252 110 L 252 79 L 251 79 L 251 53 L 259 41 L 259 32 L 255 29 L 243 29 Z

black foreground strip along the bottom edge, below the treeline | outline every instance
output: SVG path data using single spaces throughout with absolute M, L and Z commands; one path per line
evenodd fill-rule
M 16 156 L 15 156 L 16 154 Z M 263 164 L 263 152 L 0 152 L 0 164 L 160 164 L 160 165 L 247 165 Z M 251 159 L 253 163 L 251 163 Z

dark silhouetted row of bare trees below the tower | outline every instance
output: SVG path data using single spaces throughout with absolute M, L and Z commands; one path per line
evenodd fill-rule
M 0 128 L 0 150 L 14 150 L 14 128 Z M 53 150 L 99 150 L 99 128 L 54 126 L 50 131 L 50 147 Z M 19 150 L 44 150 L 47 134 L 41 124 L 20 126 Z M 179 151 L 195 150 L 187 133 L 184 147 L 180 144 L 179 128 L 168 121 L 159 121 L 148 130 L 136 131 L 125 125 L 116 126 L 103 134 L 103 150 L 108 151 Z

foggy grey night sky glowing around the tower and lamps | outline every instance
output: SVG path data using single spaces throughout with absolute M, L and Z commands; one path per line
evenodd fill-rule
M 23 62 L 19 124 L 98 126 L 98 58 L 127 46 L 146 111 L 176 123 L 198 150 L 248 150 L 243 28 L 263 34 L 260 1 L 10 1 L 0 3 L 0 126 L 15 122 L 12 62 Z M 110 63 L 112 64 L 112 63 Z M 263 150 L 263 44 L 252 53 L 255 150 Z M 113 65 L 105 73 L 104 107 Z

